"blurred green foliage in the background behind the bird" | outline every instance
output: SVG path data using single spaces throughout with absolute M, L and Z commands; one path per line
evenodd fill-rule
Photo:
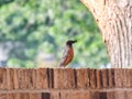
M 79 0 L 0 0 L 0 42 L 11 42 L 8 66 L 35 67 L 38 53 L 59 62 L 67 40 L 77 40 L 70 66 L 108 63 L 99 29 Z

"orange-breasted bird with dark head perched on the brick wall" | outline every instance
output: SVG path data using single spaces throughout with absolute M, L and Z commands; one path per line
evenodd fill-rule
M 74 48 L 73 44 L 76 43 L 77 41 L 67 41 L 66 42 L 66 47 L 64 50 L 64 54 L 59 64 L 59 67 L 65 67 L 67 64 L 72 62 L 74 58 Z

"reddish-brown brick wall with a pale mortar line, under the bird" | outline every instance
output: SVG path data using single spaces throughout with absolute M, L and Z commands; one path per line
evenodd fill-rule
M 132 99 L 132 69 L 1 68 L 0 99 Z

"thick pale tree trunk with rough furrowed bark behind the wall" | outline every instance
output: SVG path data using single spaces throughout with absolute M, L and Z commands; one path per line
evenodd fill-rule
M 112 67 L 132 67 L 132 0 L 80 0 L 94 14 Z

